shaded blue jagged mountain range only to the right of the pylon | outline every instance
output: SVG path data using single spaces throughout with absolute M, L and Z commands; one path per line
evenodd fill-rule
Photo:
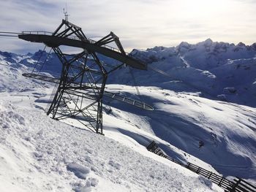
M 137 72 L 142 85 L 176 90 L 171 82 L 178 80 L 189 91 L 200 91 L 202 96 L 256 107 L 256 43 L 234 45 L 206 39 L 195 45 L 181 42 L 176 47 L 133 50 L 131 55 L 173 77 Z M 227 88 L 236 91 L 229 92 Z

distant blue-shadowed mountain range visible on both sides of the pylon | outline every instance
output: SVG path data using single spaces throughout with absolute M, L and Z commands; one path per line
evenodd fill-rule
M 181 42 L 176 47 L 153 47 L 132 50 L 130 53 L 148 64 L 169 74 L 132 69 L 138 85 L 155 85 L 178 92 L 200 92 L 200 96 L 231 101 L 256 107 L 256 43 L 238 45 L 213 42 L 206 39 L 195 45 Z M 102 57 L 105 62 L 113 60 Z M 61 72 L 61 64 L 54 53 L 43 52 L 18 55 L 0 52 L 1 64 L 14 68 L 36 66 L 36 70 L 53 76 Z M 42 66 L 43 65 L 43 66 Z M 26 71 L 26 70 L 25 70 Z M 132 84 L 129 69 L 123 67 L 109 75 L 108 83 Z

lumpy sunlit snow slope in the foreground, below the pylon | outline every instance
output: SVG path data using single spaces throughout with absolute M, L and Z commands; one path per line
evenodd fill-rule
M 137 147 L 138 153 L 50 119 L 33 107 L 32 93 L 5 94 L 0 101 L 0 191 L 222 191 L 145 148 Z

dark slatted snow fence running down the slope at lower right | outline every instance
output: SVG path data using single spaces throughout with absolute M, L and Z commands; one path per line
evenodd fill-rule
M 170 158 L 168 155 L 166 155 L 157 145 L 156 142 L 151 142 L 148 147 L 146 147 L 148 151 L 155 153 L 159 156 L 162 156 L 164 158 L 167 158 L 170 161 L 173 161 L 176 164 L 179 164 L 181 166 L 186 167 L 187 169 L 191 170 L 192 172 L 195 172 L 197 174 L 202 175 L 203 177 L 206 177 L 208 180 L 211 180 L 212 183 L 216 183 L 219 185 L 219 187 L 223 188 L 225 192 L 256 192 L 256 187 L 245 180 L 242 180 L 241 178 L 236 177 L 234 181 L 227 180 L 227 178 L 222 177 L 219 174 L 215 174 L 214 172 L 210 172 L 206 169 L 203 169 L 200 166 L 197 166 L 195 164 L 187 163 L 184 164 L 181 161 L 177 161 L 174 158 Z

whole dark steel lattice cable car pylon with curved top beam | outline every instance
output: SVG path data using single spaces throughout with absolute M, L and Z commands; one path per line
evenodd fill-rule
M 127 64 L 135 69 L 146 70 L 147 65 L 142 61 L 127 55 L 116 34 L 110 32 L 106 37 L 94 41 L 88 39 L 82 29 L 67 20 L 52 34 L 43 31 L 27 31 L 18 34 L 18 38 L 30 42 L 44 43 L 58 56 L 62 64 L 59 78 L 44 77 L 39 74 L 23 74 L 38 80 L 58 83 L 53 101 L 47 111 L 53 119 L 64 120 L 75 118 L 83 126 L 97 134 L 102 134 L 102 99 L 108 96 L 118 101 L 133 104 L 145 110 L 153 110 L 140 101 L 127 99 L 105 91 L 108 74 Z M 110 47 L 115 44 L 117 48 Z M 77 47 L 82 51 L 77 54 L 64 53 L 63 47 Z M 103 64 L 99 55 L 113 58 L 119 63 Z

